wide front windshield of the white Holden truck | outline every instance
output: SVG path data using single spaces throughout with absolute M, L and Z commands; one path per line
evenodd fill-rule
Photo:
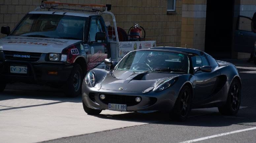
M 12 35 L 82 40 L 86 22 L 80 16 L 27 14 Z

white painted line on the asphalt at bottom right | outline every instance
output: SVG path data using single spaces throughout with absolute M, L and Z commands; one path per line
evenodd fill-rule
M 256 127 L 237 130 L 237 131 L 232 131 L 232 132 L 227 132 L 227 133 L 220 133 L 220 134 L 201 137 L 201 138 L 197 138 L 197 139 L 187 140 L 187 141 L 183 141 L 183 142 L 180 142 L 180 143 L 192 143 L 192 142 L 196 142 L 196 141 L 206 140 L 206 139 L 210 139 L 210 138 L 214 138 L 214 137 L 220 137 L 220 136 L 224 136 L 224 135 L 229 135 L 229 134 L 233 134 L 233 133 L 240 133 L 240 132 L 245 132 L 245 131 L 250 131 L 250 130 L 255 130 L 255 129 L 256 129 Z

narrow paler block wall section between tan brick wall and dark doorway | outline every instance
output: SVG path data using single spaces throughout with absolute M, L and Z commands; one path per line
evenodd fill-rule
M 183 0 L 181 47 L 205 50 L 206 0 Z

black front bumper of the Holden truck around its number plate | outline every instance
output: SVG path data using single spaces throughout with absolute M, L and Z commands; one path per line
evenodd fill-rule
M 11 73 L 10 65 L 26 66 L 27 73 Z M 65 82 L 68 80 L 73 65 L 64 63 L 31 63 L 27 61 L 0 61 L 0 78 L 5 82 L 26 82 L 34 84 L 47 84 Z M 48 74 L 48 72 L 57 72 L 57 74 Z

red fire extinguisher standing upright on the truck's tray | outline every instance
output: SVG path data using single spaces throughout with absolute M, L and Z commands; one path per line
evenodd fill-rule
M 144 31 L 144 37 L 142 38 L 142 30 Z M 130 34 L 129 34 L 130 32 Z M 128 31 L 128 39 L 129 41 L 141 41 L 145 40 L 146 32 L 143 27 L 141 27 L 139 24 L 136 24 L 132 26 Z

